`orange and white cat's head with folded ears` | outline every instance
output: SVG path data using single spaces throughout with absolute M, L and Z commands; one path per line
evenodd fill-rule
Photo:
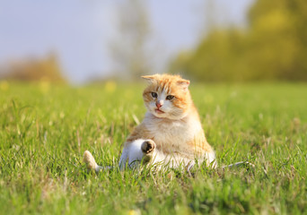
M 146 75 L 142 78 L 149 83 L 143 92 L 143 99 L 150 113 L 170 119 L 186 116 L 192 103 L 189 80 L 171 74 Z

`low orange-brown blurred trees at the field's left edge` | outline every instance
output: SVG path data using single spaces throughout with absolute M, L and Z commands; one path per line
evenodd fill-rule
M 50 53 L 46 58 L 14 61 L 8 64 L 2 78 L 20 81 L 65 82 L 57 63 L 57 55 Z

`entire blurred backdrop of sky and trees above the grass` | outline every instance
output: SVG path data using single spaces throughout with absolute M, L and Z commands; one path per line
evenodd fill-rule
M 306 0 L 0 0 L 0 79 L 305 82 L 306 23 Z

